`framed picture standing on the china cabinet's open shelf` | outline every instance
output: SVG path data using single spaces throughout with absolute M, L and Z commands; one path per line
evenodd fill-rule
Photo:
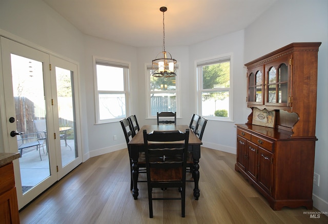
M 275 127 L 275 119 L 276 119 L 275 111 L 268 111 L 267 109 L 259 110 L 257 108 L 253 108 L 253 125 L 259 125 L 269 128 Z

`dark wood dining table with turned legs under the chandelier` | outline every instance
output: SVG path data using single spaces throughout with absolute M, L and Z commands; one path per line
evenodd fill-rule
M 132 196 L 136 200 L 139 195 L 138 190 L 138 158 L 139 152 L 145 152 L 144 145 L 144 135 L 143 131 L 147 130 L 147 133 L 152 131 L 173 131 L 179 130 L 181 132 L 186 132 L 186 129 L 190 129 L 188 125 L 145 125 L 140 128 L 137 134 L 129 141 L 128 150 L 130 151 L 130 157 L 132 160 L 132 180 L 133 180 L 133 189 Z M 149 144 L 156 144 L 158 142 L 153 142 Z M 163 142 L 162 144 L 176 144 L 176 142 Z M 188 142 L 188 151 L 192 152 L 193 155 L 193 178 L 194 178 L 194 197 L 198 200 L 200 193 L 198 188 L 199 181 L 199 159 L 200 159 L 200 145 L 202 145 L 201 140 L 196 136 L 196 134 L 190 129 L 189 132 L 189 142 Z

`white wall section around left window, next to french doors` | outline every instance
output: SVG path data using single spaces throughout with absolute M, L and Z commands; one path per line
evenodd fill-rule
M 86 73 L 86 101 L 87 103 L 87 123 L 90 156 L 101 155 L 107 152 L 126 148 L 124 134 L 119 122 L 95 125 L 95 98 L 94 98 L 94 79 L 93 79 L 93 56 L 104 57 L 115 60 L 123 60 L 131 63 L 131 93 L 132 99 L 136 99 L 134 93 L 137 89 L 137 49 L 130 46 L 109 42 L 108 40 L 85 36 L 84 38 L 84 70 Z M 131 100 L 131 111 L 135 111 L 137 102 Z M 127 112 L 128 113 L 128 112 Z M 117 140 L 113 140 L 113 135 Z

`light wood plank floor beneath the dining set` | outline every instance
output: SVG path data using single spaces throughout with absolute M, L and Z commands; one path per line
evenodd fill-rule
M 202 148 L 200 197 L 187 183 L 186 217 L 180 201 L 154 201 L 149 218 L 147 184 L 130 191 L 127 149 L 90 158 L 20 211 L 21 223 L 328 223 L 310 218 L 305 208 L 273 211 L 268 202 L 234 170 L 236 155 Z M 145 175 L 145 174 L 140 174 Z M 157 190 L 156 190 L 157 191 Z M 158 194 L 177 190 L 157 191 Z M 311 211 L 318 211 L 316 209 Z

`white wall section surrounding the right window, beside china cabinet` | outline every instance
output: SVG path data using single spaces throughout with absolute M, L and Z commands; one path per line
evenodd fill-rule
M 196 88 L 196 68 L 195 60 L 208 57 L 219 56 L 232 53 L 233 55 L 233 122 L 208 120 L 204 135 L 202 138 L 203 146 L 218 149 L 230 153 L 236 153 L 236 127 L 237 123 L 247 121 L 250 110 L 246 104 L 247 79 L 246 70 L 243 68 L 243 31 L 238 31 L 228 35 L 220 36 L 205 42 L 190 46 L 189 48 L 189 71 L 191 83 L 190 86 Z M 189 117 L 196 112 L 194 95 L 190 100 Z M 199 112 L 198 112 L 199 113 Z

